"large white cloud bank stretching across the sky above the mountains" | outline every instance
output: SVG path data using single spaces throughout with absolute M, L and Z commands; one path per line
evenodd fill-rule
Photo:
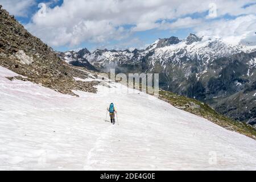
M 0 0 L 1 1 L 1 0 Z M 29 1 L 29 0 L 27 0 Z M 216 4 L 218 20 L 195 16 L 209 11 Z M 47 7 L 46 16 L 35 14 L 26 25 L 32 34 L 50 46 L 76 46 L 82 42 L 121 40 L 136 31 L 153 28 L 205 28 L 223 23 L 221 17 L 255 14 L 254 0 L 64 0 L 61 6 Z M 129 25 L 129 28 L 127 28 Z M 220 25 L 220 28 L 223 25 Z M 226 27 L 228 28 L 228 27 Z M 216 29 L 216 28 L 215 28 Z M 218 33 L 213 27 L 212 32 Z M 242 29 L 241 29 L 242 30 Z M 196 29 L 198 32 L 203 32 Z

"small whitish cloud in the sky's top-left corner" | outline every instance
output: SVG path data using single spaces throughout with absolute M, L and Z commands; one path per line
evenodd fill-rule
M 27 16 L 28 8 L 35 5 L 35 0 L 0 0 L 0 5 L 15 16 Z

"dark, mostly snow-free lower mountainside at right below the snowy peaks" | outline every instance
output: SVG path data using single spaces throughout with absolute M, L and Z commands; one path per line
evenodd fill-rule
M 163 85 L 163 88 L 207 102 L 219 113 L 237 121 L 254 123 L 256 67 L 249 65 L 255 57 L 256 52 L 242 52 L 215 59 L 207 65 L 207 72 L 201 77 L 196 77 L 200 74 L 200 64 L 196 65 L 193 61 L 188 62 L 183 69 L 170 64 L 166 66 L 169 68 L 166 68 L 167 74 L 164 75 L 168 79 L 163 81 L 168 84 Z M 190 72 L 188 77 L 184 77 L 186 67 Z

